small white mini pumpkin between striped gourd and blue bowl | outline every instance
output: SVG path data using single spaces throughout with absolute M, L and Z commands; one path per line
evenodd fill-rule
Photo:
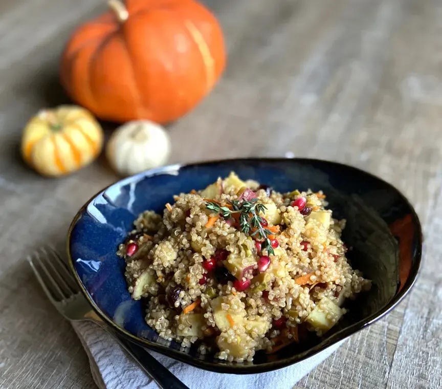
M 161 166 L 169 154 L 169 135 L 161 125 L 149 120 L 123 124 L 106 146 L 107 160 L 123 176 Z

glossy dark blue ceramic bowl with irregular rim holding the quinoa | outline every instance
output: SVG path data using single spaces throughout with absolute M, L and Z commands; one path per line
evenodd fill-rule
M 127 292 L 124 261 L 117 257 L 136 216 L 161 211 L 172 196 L 202 189 L 235 171 L 281 192 L 322 189 L 337 218 L 347 219 L 343 241 L 349 260 L 373 280 L 357 304 L 323 338 L 258 352 L 253 362 L 231 363 L 183 349 L 158 337 L 144 321 L 143 302 Z M 68 234 L 70 264 L 84 295 L 109 325 L 144 347 L 202 369 L 259 373 L 308 358 L 367 327 L 393 309 L 413 285 L 421 262 L 422 232 L 410 203 L 390 184 L 362 170 L 312 159 L 238 159 L 149 170 L 105 188 L 77 213 Z

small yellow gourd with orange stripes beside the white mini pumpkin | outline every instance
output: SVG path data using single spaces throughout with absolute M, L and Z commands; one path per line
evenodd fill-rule
M 43 176 L 62 176 L 91 163 L 103 147 L 103 130 L 92 114 L 75 105 L 41 110 L 27 123 L 21 154 Z

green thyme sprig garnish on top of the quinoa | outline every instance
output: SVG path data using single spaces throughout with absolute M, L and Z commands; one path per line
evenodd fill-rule
M 232 209 L 220 206 L 214 201 L 206 201 L 206 207 L 211 211 L 222 214 L 224 219 L 229 219 L 234 213 L 239 213 L 238 221 L 241 231 L 250 236 L 258 235 L 260 239 L 263 239 L 262 249 L 266 249 L 269 255 L 274 255 L 275 251 L 269 239 L 269 235 L 272 235 L 273 232 L 262 226 L 263 219 L 259 216 L 259 213 L 264 213 L 267 207 L 259 203 L 257 198 L 249 201 L 232 200 L 229 203 Z M 250 233 L 253 228 L 255 228 L 255 231 Z

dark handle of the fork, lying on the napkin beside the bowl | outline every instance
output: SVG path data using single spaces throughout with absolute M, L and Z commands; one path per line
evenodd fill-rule
M 147 350 L 112 331 L 122 347 L 137 360 L 141 368 L 160 386 L 160 389 L 189 389 L 183 382 L 170 373 Z

